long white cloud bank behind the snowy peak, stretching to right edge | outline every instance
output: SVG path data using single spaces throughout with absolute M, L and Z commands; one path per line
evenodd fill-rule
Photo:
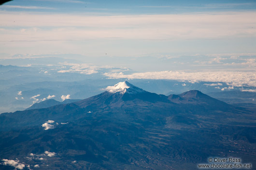
M 125 75 L 124 73 L 104 73 L 108 78 L 119 79 L 174 79 L 181 81 L 207 81 L 225 82 L 229 86 L 242 87 L 243 85 L 256 87 L 256 74 L 254 71 L 204 71 L 204 72 L 184 72 L 184 71 L 159 71 L 143 72 Z

